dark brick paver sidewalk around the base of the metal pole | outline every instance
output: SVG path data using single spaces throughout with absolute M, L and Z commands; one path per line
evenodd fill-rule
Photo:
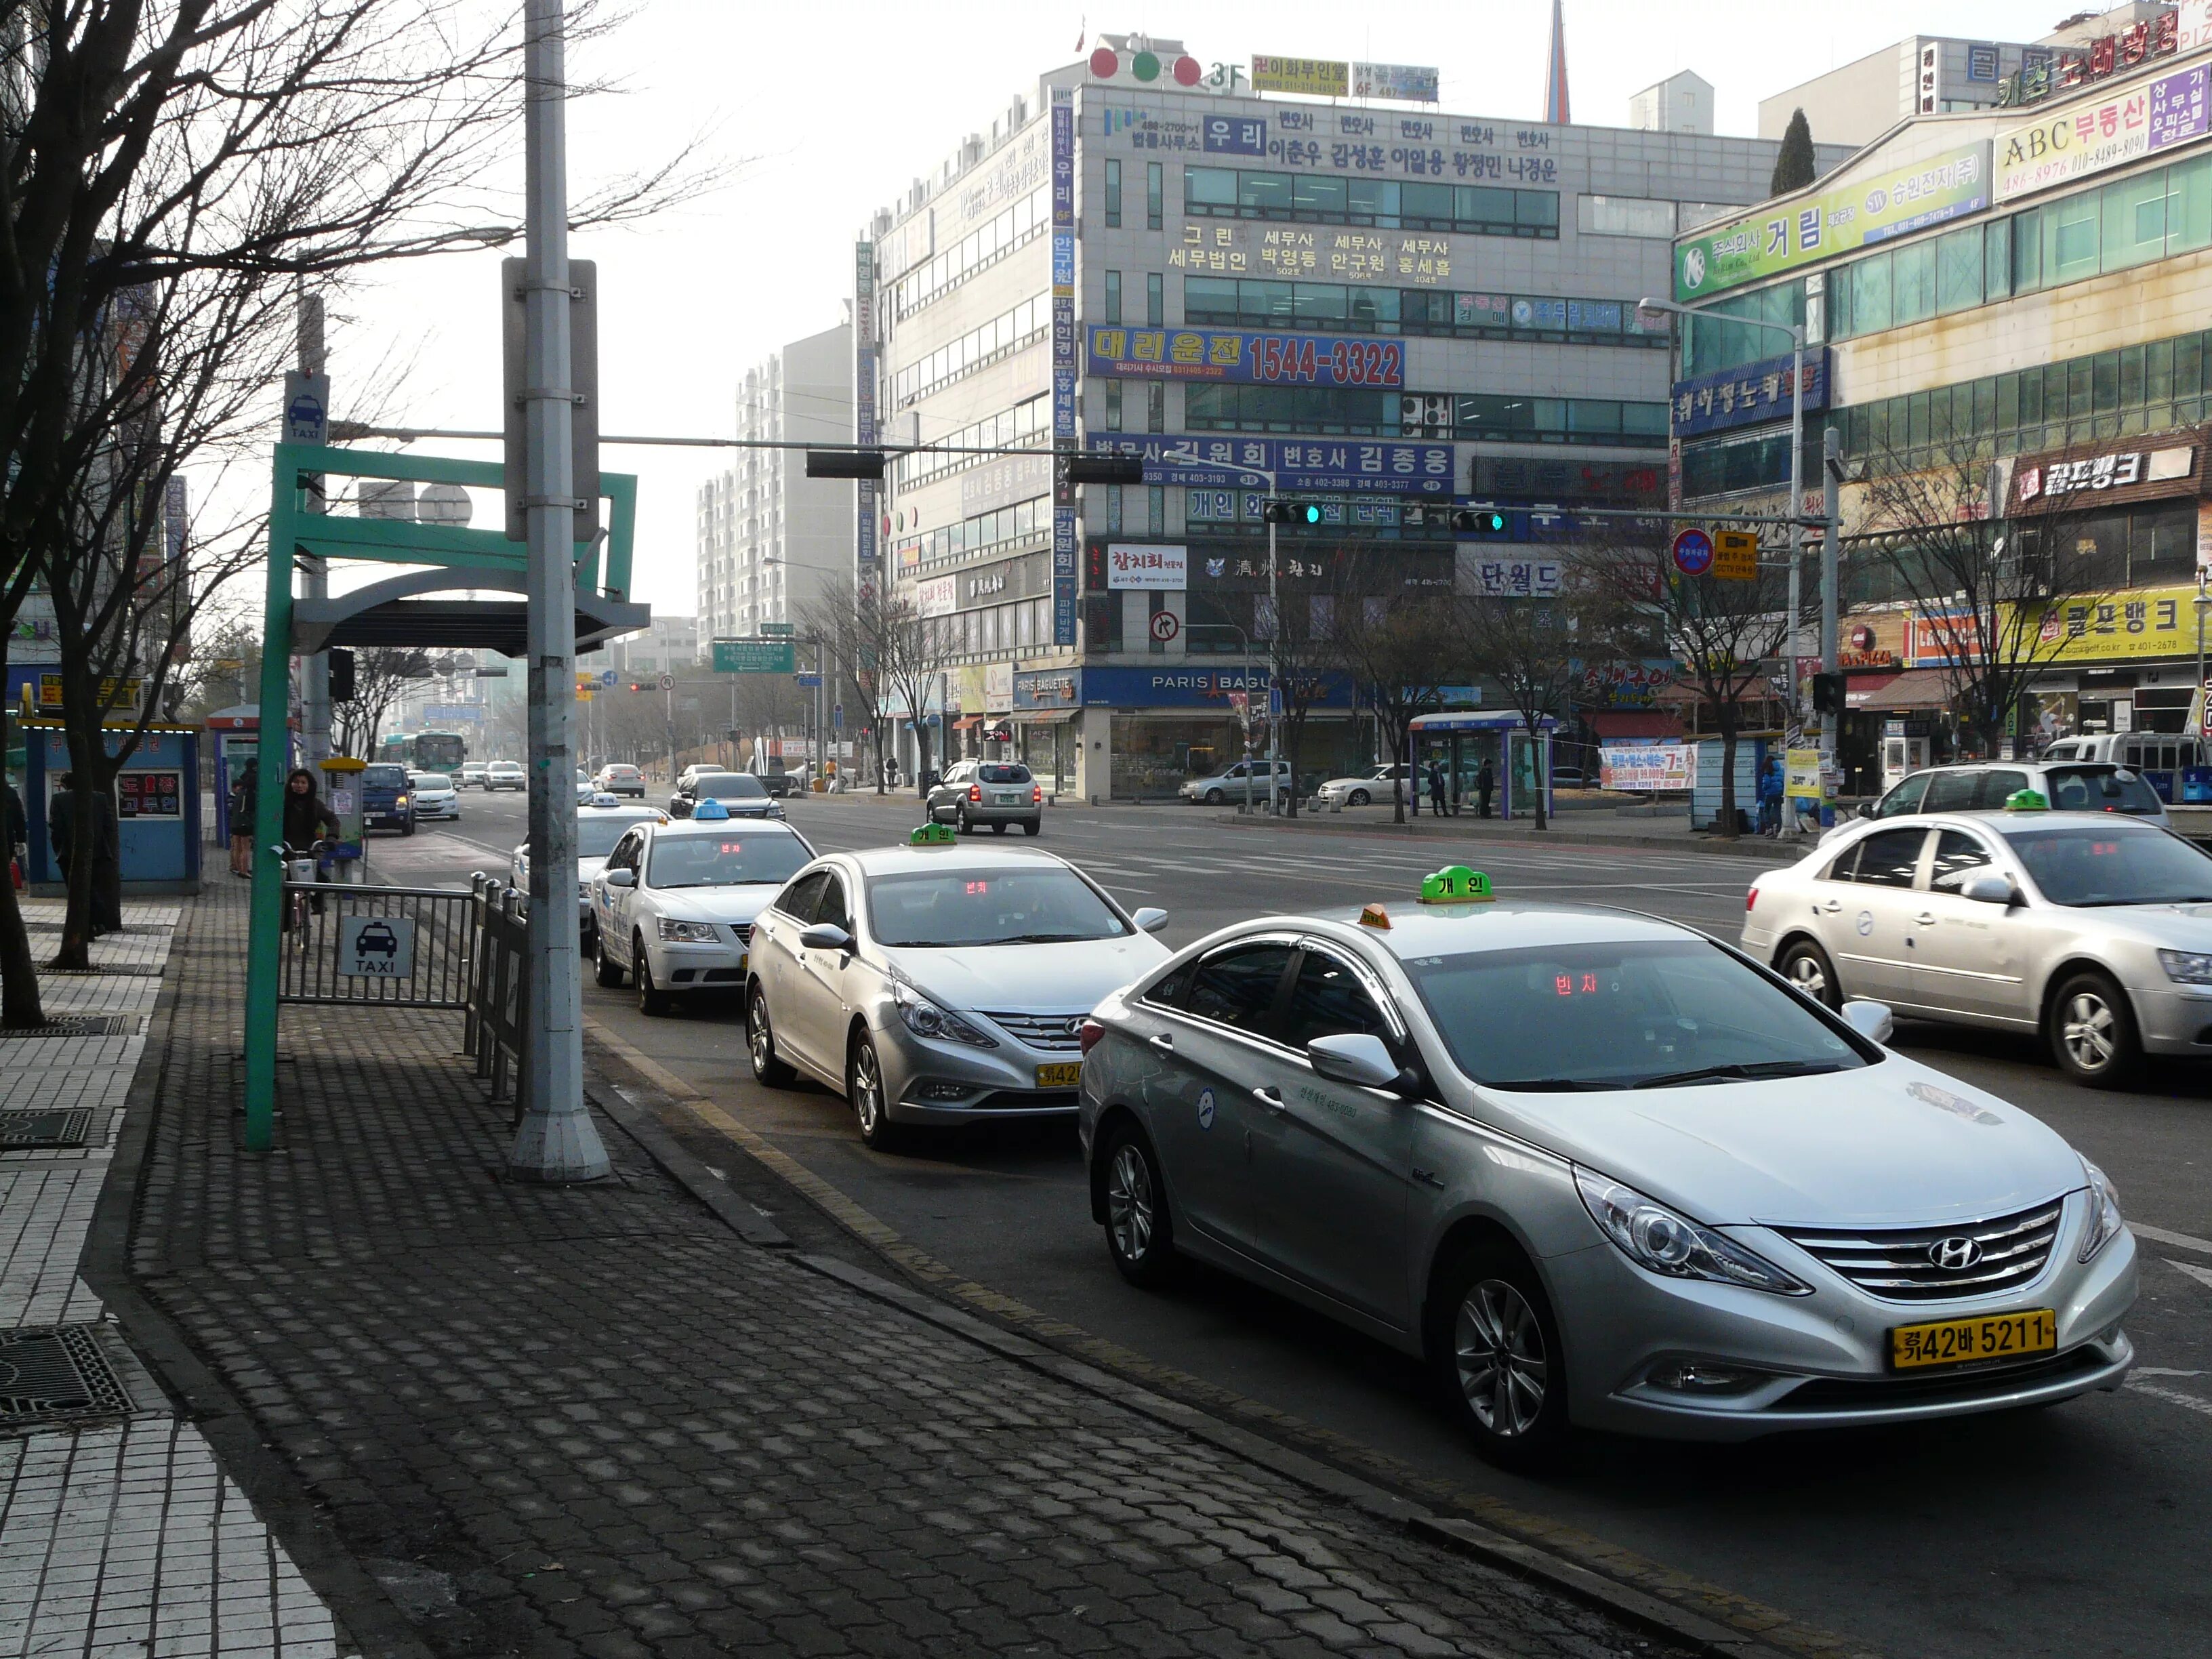
M 241 958 L 219 887 L 133 1274 L 431 1652 L 1668 1652 L 743 1243 L 606 1119 L 615 1181 L 504 1183 L 456 1018 L 288 1009 L 248 1159 Z

